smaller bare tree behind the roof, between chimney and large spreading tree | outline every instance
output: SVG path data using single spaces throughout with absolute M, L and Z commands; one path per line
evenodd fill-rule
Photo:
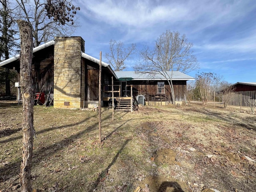
M 132 44 L 130 47 L 125 48 L 124 43 L 115 40 L 109 42 L 109 53 L 106 53 L 106 59 L 113 67 L 114 71 L 122 71 L 126 68 L 124 61 L 128 58 L 132 58 L 136 50 L 136 45 Z

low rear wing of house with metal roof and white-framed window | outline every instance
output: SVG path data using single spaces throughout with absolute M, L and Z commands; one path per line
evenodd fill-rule
M 191 76 L 178 71 L 168 71 L 168 76 L 172 76 L 172 84 L 175 93 L 175 101 L 182 102 L 186 95 L 186 81 L 194 80 Z M 124 93 L 124 85 L 133 85 L 134 96 L 144 95 L 147 101 L 171 102 L 171 91 L 168 81 L 161 74 L 142 74 L 134 71 L 115 71 L 118 79 L 129 77 L 129 81 L 122 81 L 122 93 Z M 128 88 L 129 90 L 129 88 Z

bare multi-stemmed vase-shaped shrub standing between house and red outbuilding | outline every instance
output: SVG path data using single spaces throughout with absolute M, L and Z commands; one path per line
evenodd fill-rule
M 214 73 L 205 73 L 196 75 L 196 88 L 198 89 L 198 94 L 202 99 L 202 104 L 207 105 L 209 102 L 212 93 L 214 92 L 214 82 L 216 80 L 216 74 Z

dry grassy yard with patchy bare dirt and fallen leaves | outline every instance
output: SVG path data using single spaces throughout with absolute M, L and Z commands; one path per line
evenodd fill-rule
M 0 101 L 0 191 L 19 191 L 22 106 Z M 133 113 L 34 107 L 34 192 L 249 192 L 256 189 L 256 115 L 200 103 Z

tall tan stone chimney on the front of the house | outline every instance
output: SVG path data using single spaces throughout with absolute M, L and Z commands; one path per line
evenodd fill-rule
M 80 108 L 81 37 L 56 37 L 54 45 L 54 108 Z

